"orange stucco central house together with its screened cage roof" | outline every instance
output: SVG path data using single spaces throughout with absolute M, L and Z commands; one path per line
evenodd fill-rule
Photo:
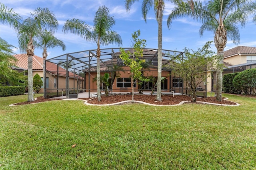
M 131 48 L 125 48 L 125 50 L 132 53 Z M 97 91 L 96 51 L 96 49 L 91 49 L 60 55 L 46 60 L 46 65 L 48 63 L 57 64 L 60 61 L 66 63 L 74 62 L 74 71 L 82 71 L 85 74 L 85 91 L 95 93 Z M 163 93 L 170 91 L 174 91 L 175 93 L 186 93 L 186 85 L 182 82 L 182 79 L 175 75 L 171 75 L 171 70 L 164 67 L 166 63 L 170 62 L 170 57 L 173 53 L 177 55 L 176 57 L 183 56 L 183 52 L 180 51 L 162 50 L 162 77 L 166 77 L 166 79 L 162 83 L 161 89 Z M 145 61 L 145 65 L 143 66 L 142 73 L 145 77 L 150 78 L 151 81 L 143 82 L 142 85 L 138 84 L 138 82 L 135 82 L 132 85 L 130 68 L 124 65 L 122 59 L 119 58 L 119 55 L 120 48 L 101 49 L 100 75 L 103 76 L 104 73 L 110 74 L 109 90 L 111 93 L 130 93 L 132 91 L 132 86 L 136 93 L 139 91 L 151 92 L 152 89 L 156 90 L 158 49 L 143 49 L 143 57 L 140 59 Z M 104 93 L 104 83 L 101 84 L 101 90 Z

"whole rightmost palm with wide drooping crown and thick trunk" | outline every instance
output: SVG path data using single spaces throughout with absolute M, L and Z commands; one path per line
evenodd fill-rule
M 214 32 L 214 44 L 217 49 L 217 84 L 216 99 L 222 101 L 222 69 L 223 55 L 226 47 L 227 37 L 234 43 L 239 43 L 240 34 L 238 23 L 245 26 L 248 16 L 256 11 L 256 2 L 250 0 L 210 0 L 205 5 L 200 1 L 180 3 L 168 16 L 167 24 L 170 28 L 172 20 L 182 16 L 190 16 L 202 22 L 199 34 L 204 31 Z

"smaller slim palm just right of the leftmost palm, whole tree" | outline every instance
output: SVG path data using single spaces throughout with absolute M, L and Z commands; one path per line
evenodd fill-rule
M 59 40 L 58 38 L 54 37 L 53 32 L 44 30 L 40 32 L 40 34 L 37 37 L 37 42 L 35 43 L 36 47 L 40 47 L 43 49 L 43 74 L 45 74 L 46 68 L 45 68 L 45 60 L 48 56 L 47 49 L 48 48 L 54 48 L 54 47 L 61 47 L 64 51 L 66 49 L 66 45 L 62 40 Z M 44 75 L 43 75 L 44 77 Z M 43 78 L 43 85 L 45 87 L 44 78 Z

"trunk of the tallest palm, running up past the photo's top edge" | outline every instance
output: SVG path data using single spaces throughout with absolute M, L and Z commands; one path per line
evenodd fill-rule
M 159 0 L 158 4 L 158 57 L 157 57 L 157 93 L 156 100 L 162 101 L 161 99 L 161 77 L 162 77 L 162 0 Z

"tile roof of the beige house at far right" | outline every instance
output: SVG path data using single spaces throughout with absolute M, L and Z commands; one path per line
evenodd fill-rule
M 234 54 L 256 54 L 256 47 L 237 46 L 224 51 L 224 57 L 229 57 Z

